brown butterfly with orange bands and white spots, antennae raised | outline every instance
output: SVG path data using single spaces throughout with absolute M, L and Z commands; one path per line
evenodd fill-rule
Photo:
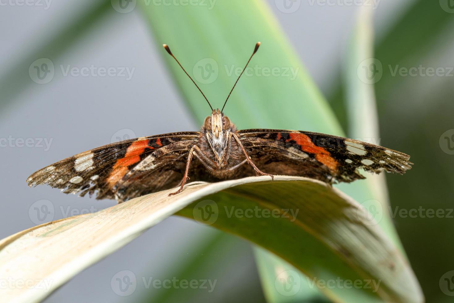
M 213 109 L 205 94 L 170 51 L 212 109 L 198 132 L 178 132 L 124 140 L 76 154 L 39 169 L 29 186 L 49 184 L 64 193 L 96 193 L 96 199 L 118 203 L 144 194 L 176 188 L 189 179 L 217 182 L 247 176 L 303 176 L 327 184 L 364 179 L 360 169 L 404 174 L 410 156 L 392 149 L 308 131 L 237 130 L 223 109 L 244 70 L 257 53 L 258 42 L 222 110 Z

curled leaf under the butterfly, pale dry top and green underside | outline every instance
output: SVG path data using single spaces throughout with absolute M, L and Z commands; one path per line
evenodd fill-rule
M 1 288 L 0 297 L 5 302 L 39 302 L 84 268 L 177 213 L 275 253 L 337 302 L 423 300 L 409 264 L 379 226 L 358 203 L 324 183 L 301 177 L 276 176 L 273 182 L 250 177 L 192 183 L 168 197 L 170 191 L 1 240 L 0 279 L 36 284 Z M 299 291 L 297 283 L 286 287 L 301 278 L 298 273 L 280 270 L 276 268 L 277 291 L 287 296 Z

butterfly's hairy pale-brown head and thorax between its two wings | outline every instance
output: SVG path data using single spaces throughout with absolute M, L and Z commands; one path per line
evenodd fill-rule
M 202 126 L 201 149 L 210 155 L 221 171 L 238 164 L 241 152 L 232 137 L 236 132 L 235 125 L 219 109 L 213 110 Z

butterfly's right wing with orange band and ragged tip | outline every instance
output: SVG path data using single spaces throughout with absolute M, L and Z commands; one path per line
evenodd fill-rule
M 327 134 L 278 129 L 246 129 L 239 135 L 252 161 L 270 174 L 351 182 L 359 170 L 403 174 L 410 156 L 384 147 Z

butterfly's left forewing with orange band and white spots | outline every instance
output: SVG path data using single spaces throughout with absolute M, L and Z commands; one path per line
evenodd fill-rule
M 167 151 L 175 149 L 179 154 L 185 152 L 188 154 L 191 146 L 197 142 L 199 135 L 198 132 L 162 134 L 101 146 L 40 169 L 31 174 L 27 182 L 29 186 L 49 184 L 62 189 L 66 194 L 80 192 L 80 195 L 83 196 L 87 193 L 90 195 L 96 193 L 96 199 L 118 198 L 117 191 L 120 187 L 117 184 L 121 183 L 126 175 L 132 178 L 131 171 L 134 171 L 135 167 L 143 164 L 146 159 L 150 161 L 151 155 L 157 152 L 162 154 L 161 149 Z M 153 159 L 153 165 L 161 170 L 158 175 L 178 175 L 178 165 L 171 165 L 174 155 L 175 153 L 171 153 L 170 157 L 168 154 L 167 157 L 161 156 Z M 169 164 L 167 170 L 171 170 L 173 173 L 165 173 L 166 169 L 163 169 L 163 164 Z M 146 177 L 148 179 L 143 179 L 141 182 L 151 183 L 152 179 L 156 179 L 156 175 L 148 174 Z M 154 184 L 150 187 L 150 191 L 142 190 L 140 193 L 151 193 L 152 189 L 158 190 L 163 185 L 167 184 Z

